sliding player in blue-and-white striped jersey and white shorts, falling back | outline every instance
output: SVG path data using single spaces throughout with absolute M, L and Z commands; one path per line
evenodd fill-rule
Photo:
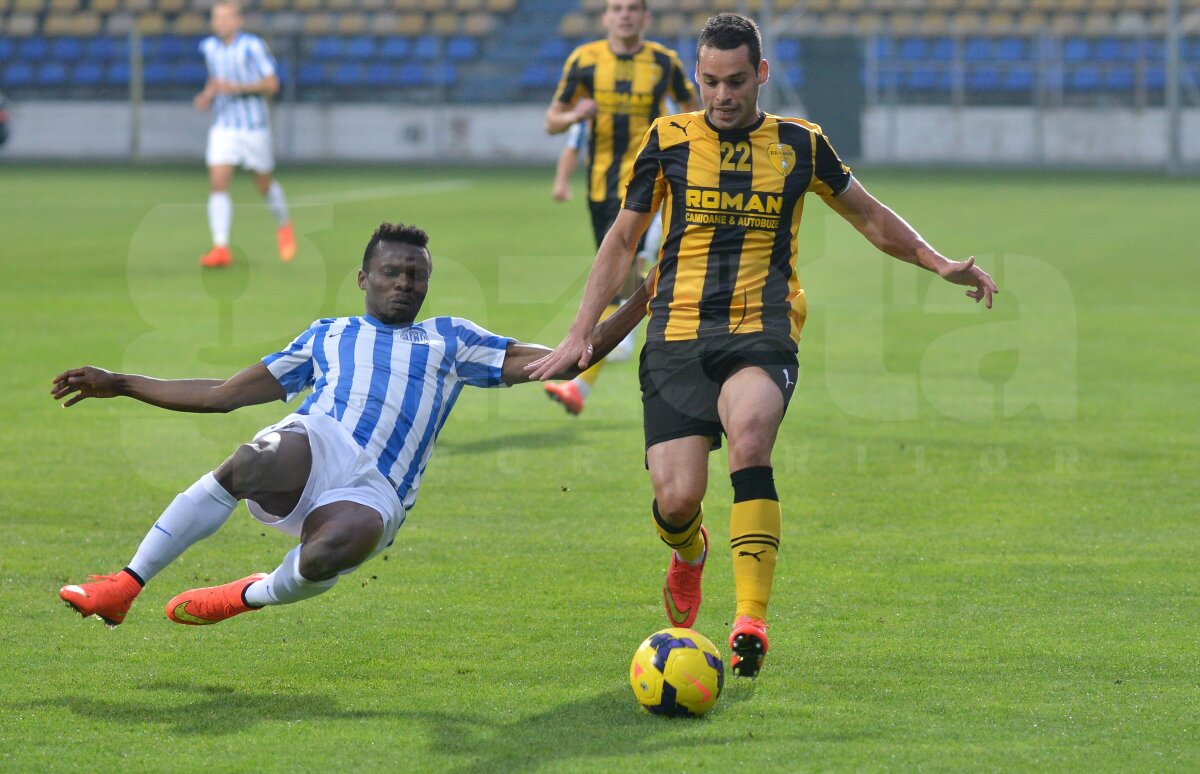
M 382 224 L 359 271 L 366 313 L 317 320 L 286 349 L 227 380 L 162 380 L 91 366 L 56 377 L 52 394 L 68 398 L 64 406 L 124 395 L 176 412 L 230 412 L 312 388 L 293 414 L 179 494 L 128 566 L 65 586 L 59 595 L 115 626 L 142 587 L 215 533 L 240 499 L 300 545 L 269 575 L 179 594 L 167 605 L 172 620 L 212 624 L 316 596 L 390 545 L 463 385 L 528 382 L 526 366 L 550 352 L 457 317 L 415 323 L 433 268 L 427 241 L 418 228 Z M 646 299 L 638 290 L 596 326 L 595 356 L 642 319 Z

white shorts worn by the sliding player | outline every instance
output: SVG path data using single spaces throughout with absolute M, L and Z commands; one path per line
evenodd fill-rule
M 264 427 L 258 440 L 272 432 L 301 432 L 312 449 L 312 470 L 295 509 L 282 518 L 268 514 L 253 500 L 246 500 L 250 515 L 283 533 L 300 536 L 308 514 L 330 503 L 350 502 L 374 510 L 383 520 L 383 535 L 371 556 L 391 545 L 396 530 L 404 523 L 404 506 L 396 490 L 374 467 L 374 461 L 354 443 L 350 434 L 332 416 L 289 414 L 282 421 Z M 370 558 L 370 557 L 368 557 Z

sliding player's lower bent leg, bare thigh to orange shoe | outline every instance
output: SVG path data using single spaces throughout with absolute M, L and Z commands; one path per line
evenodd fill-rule
M 178 624 L 215 624 L 268 605 L 324 594 L 338 575 L 371 557 L 383 533 L 383 517 L 373 508 L 350 502 L 323 505 L 307 516 L 301 544 L 275 571 L 184 592 L 167 602 L 167 617 Z

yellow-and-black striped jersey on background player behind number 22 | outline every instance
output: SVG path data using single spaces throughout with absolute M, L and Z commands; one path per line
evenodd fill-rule
M 554 98 L 596 102 L 588 138 L 588 199 L 620 200 L 637 143 L 662 115 L 667 95 L 677 103 L 696 98 L 679 55 L 653 41 L 636 54 L 614 54 L 608 41 L 580 46 L 566 58 Z

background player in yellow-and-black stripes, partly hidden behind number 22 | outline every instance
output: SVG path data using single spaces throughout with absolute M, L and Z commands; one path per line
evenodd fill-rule
M 666 114 L 666 98 L 672 97 L 682 110 L 700 109 L 679 55 L 646 40 L 649 22 L 646 0 L 607 0 L 604 12 L 607 37 L 571 52 L 546 110 L 546 131 L 551 134 L 560 134 L 580 121 L 590 124 L 588 209 L 596 247 L 620 212 L 637 146 L 654 119 Z M 631 263 L 625 283 L 606 313 L 616 310 L 637 286 L 638 274 Z M 600 365 L 571 382 L 547 383 L 546 394 L 568 413 L 578 414 Z

